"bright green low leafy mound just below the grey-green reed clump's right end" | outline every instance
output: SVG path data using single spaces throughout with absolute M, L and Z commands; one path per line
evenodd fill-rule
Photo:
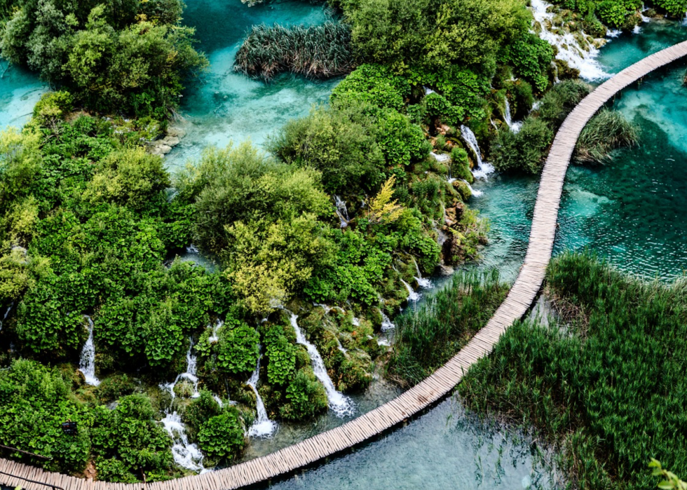
M 393 74 L 381 64 L 361 64 L 334 88 L 330 100 L 338 107 L 364 102 L 402 111 L 409 95 L 407 79 Z

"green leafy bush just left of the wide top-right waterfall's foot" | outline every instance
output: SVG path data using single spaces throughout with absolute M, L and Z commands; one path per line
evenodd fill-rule
M 546 90 L 549 83 L 546 71 L 552 60 L 552 46 L 530 32 L 509 43 L 503 56 L 503 62 L 513 67 L 515 75 L 529 81 L 539 92 Z

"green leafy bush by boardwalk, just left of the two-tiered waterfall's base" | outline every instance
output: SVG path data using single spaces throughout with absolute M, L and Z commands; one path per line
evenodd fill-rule
M 172 440 L 154 420 L 150 400 L 144 395 L 121 398 L 110 411 L 97 407 L 90 429 L 96 465 L 109 471 L 101 477 L 135 481 L 143 471 L 147 479 L 164 475 L 172 466 Z M 125 477 L 122 471 L 125 470 Z M 122 478 L 123 477 L 123 478 Z

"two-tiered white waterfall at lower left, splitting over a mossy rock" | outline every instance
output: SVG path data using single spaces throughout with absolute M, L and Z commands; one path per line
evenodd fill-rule
M 193 349 L 193 341 L 191 341 L 191 346 L 189 346 L 189 351 L 186 353 L 186 372 L 179 374 L 177 379 L 172 381 L 172 383 L 167 383 L 160 385 L 163 390 L 168 390 L 170 395 L 172 395 L 172 402 L 176 397 L 174 393 L 174 387 L 181 379 L 187 379 L 193 383 L 193 397 L 198 396 L 198 378 L 196 377 L 196 358 L 191 355 Z M 172 410 L 172 404 L 165 411 L 165 418 L 161 420 L 161 423 L 167 433 L 172 437 L 172 457 L 175 463 L 186 468 L 186 470 L 191 471 L 205 471 L 203 466 L 203 453 L 200 452 L 196 444 L 191 444 L 189 442 L 189 436 L 186 435 L 186 426 L 182 422 L 182 417 L 177 413 L 176 410 Z

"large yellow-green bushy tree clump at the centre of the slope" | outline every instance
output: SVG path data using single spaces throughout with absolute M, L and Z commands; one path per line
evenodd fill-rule
M 205 151 L 177 187 L 181 199 L 196 200 L 196 242 L 219 254 L 251 311 L 285 302 L 329 260 L 318 218 L 332 208 L 311 168 L 273 161 L 250 144 L 230 145 Z

